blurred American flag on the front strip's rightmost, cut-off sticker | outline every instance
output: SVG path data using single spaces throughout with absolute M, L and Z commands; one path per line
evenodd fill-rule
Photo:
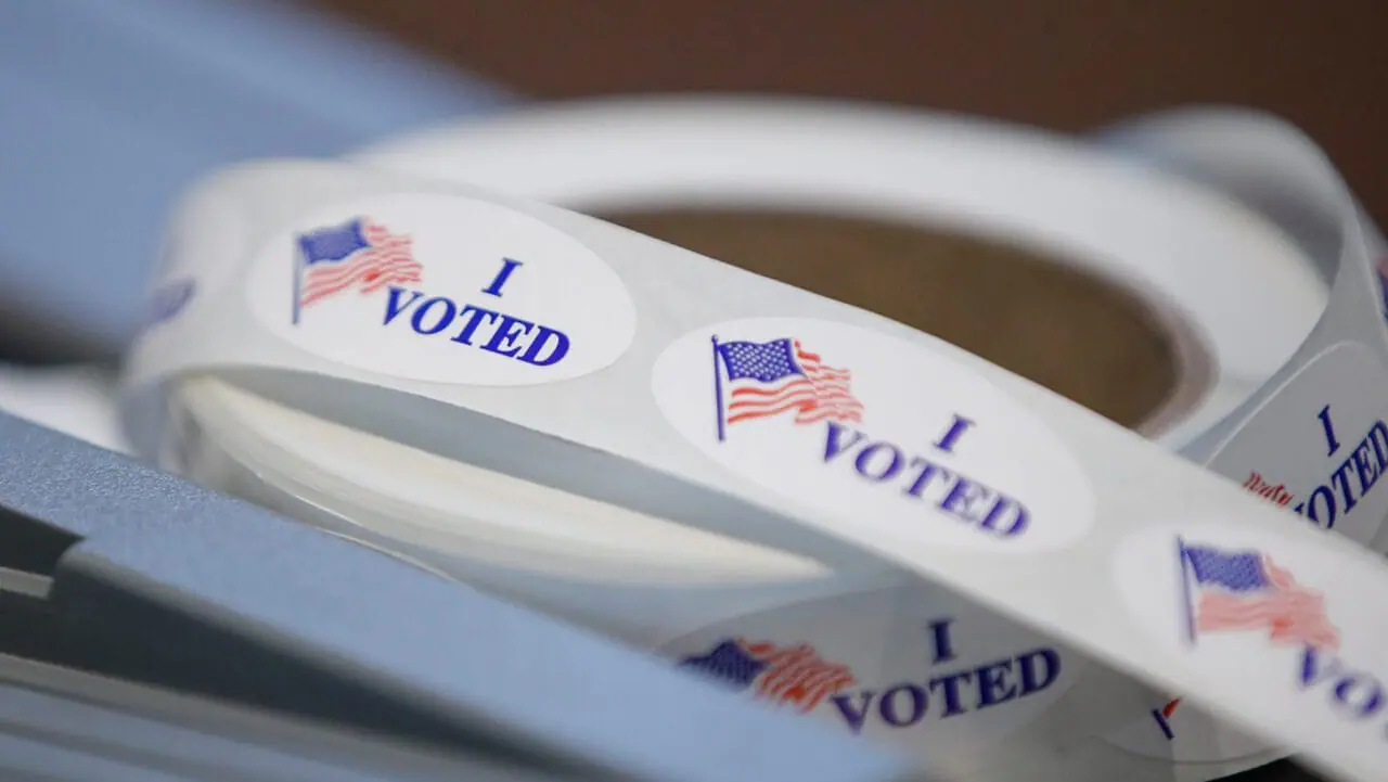
M 1276 644 L 1339 646 L 1324 597 L 1296 583 L 1267 554 L 1184 543 L 1181 550 L 1195 588 L 1190 601 L 1195 633 L 1266 629 Z

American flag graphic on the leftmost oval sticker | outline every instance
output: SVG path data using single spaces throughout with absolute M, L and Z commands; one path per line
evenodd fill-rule
M 421 282 L 423 267 L 411 243 L 408 235 L 391 233 L 365 217 L 301 235 L 298 307 L 344 290 L 375 293 L 387 285 Z

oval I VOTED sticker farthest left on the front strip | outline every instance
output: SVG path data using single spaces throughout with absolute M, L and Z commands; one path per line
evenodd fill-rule
M 260 250 L 250 307 L 298 347 L 394 378 L 519 386 L 622 356 L 636 308 L 616 272 L 532 217 L 394 193 L 318 210 Z

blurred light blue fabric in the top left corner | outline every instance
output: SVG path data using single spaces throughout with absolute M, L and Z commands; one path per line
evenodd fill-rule
M 114 353 L 171 201 L 198 175 L 507 100 L 285 3 L 0 1 L 0 306 Z

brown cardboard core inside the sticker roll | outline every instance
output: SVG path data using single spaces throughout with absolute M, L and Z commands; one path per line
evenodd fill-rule
M 1151 303 L 1037 249 L 827 213 L 598 217 L 931 333 L 1128 428 L 1196 374 Z

